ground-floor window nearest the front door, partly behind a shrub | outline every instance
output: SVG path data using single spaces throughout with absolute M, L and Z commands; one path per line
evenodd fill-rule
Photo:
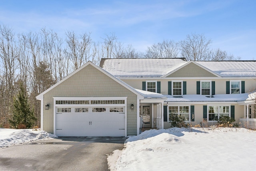
M 171 121 L 172 115 L 178 115 L 184 117 L 185 121 L 189 121 L 189 106 L 169 106 L 168 121 Z

